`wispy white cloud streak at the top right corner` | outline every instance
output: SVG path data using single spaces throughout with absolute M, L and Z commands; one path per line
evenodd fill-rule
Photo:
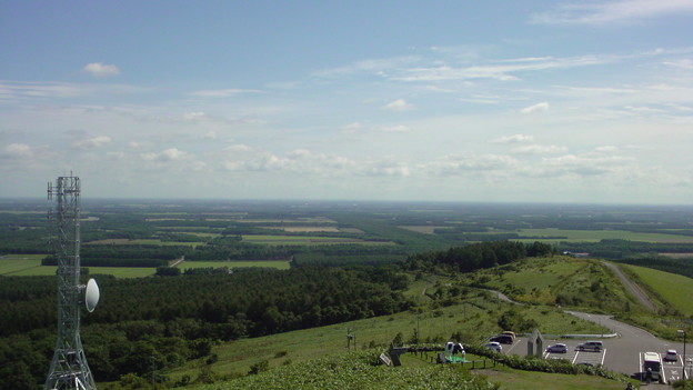
M 621 0 L 607 2 L 574 2 L 531 17 L 534 23 L 610 26 L 665 14 L 693 12 L 690 0 Z

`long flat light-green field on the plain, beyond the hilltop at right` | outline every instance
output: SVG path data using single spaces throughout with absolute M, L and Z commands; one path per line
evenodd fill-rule
M 644 242 L 663 242 L 663 243 L 693 243 L 693 237 L 663 234 L 663 233 L 642 233 L 625 230 L 565 230 L 565 229 L 519 229 L 515 231 L 522 237 L 530 237 L 519 241 L 533 242 L 543 241 L 559 243 L 568 242 L 599 242 L 600 240 L 631 240 Z M 564 237 L 555 239 L 553 237 Z

